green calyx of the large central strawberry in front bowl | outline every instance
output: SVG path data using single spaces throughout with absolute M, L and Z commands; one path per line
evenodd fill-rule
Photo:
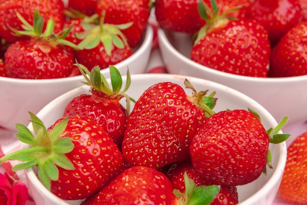
M 197 90 L 192 86 L 192 84 L 187 79 L 184 80 L 184 86 L 185 88 L 190 88 L 193 90 L 192 95 L 188 96 L 188 98 L 198 108 L 203 110 L 206 117 L 210 117 L 215 114 L 215 112 L 212 109 L 215 107 L 217 101 L 217 98 L 214 97 L 216 92 L 212 92 L 207 96 L 206 94 L 209 90 L 201 90 L 197 92 Z

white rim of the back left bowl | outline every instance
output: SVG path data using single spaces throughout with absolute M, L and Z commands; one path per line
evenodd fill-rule
M 135 59 L 138 59 L 146 49 L 151 47 L 153 39 L 153 28 L 151 25 L 147 25 L 145 35 L 144 35 L 144 40 L 143 43 L 140 45 L 140 47 L 127 59 L 115 64 L 115 66 L 120 67 L 125 64 L 129 64 L 130 62 L 134 61 Z M 107 69 L 102 69 L 102 72 Z M 73 76 L 73 77 L 65 77 L 65 78 L 54 78 L 54 79 L 18 79 L 18 78 L 8 78 L 8 77 L 2 77 L 0 76 L 0 82 L 5 82 L 5 83 L 14 83 L 14 84 L 50 84 L 50 83 L 69 83 L 69 82 L 74 82 L 74 81 L 82 81 L 83 76 L 78 75 L 78 76 Z

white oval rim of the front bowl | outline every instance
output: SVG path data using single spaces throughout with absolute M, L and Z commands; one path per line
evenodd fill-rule
M 184 75 L 176 75 L 176 74 L 132 74 L 131 75 L 131 80 L 133 81 L 137 81 L 137 80 L 144 80 L 146 79 L 146 77 L 150 76 L 151 78 L 154 79 L 158 79 L 159 81 L 166 81 L 166 80 L 170 80 L 170 79 L 192 79 L 195 82 L 198 83 L 210 83 L 210 86 L 213 87 L 219 87 L 223 90 L 227 90 L 228 92 L 235 94 L 236 96 L 243 98 L 247 101 L 250 101 L 251 103 L 253 103 L 253 106 L 256 106 L 257 109 L 261 110 L 261 112 L 263 112 L 263 114 L 265 114 L 265 116 L 267 117 L 267 120 L 271 123 L 271 124 L 275 124 L 277 125 L 277 121 L 275 120 L 275 118 L 263 107 L 261 106 L 259 103 L 257 103 L 254 99 L 252 99 L 251 97 L 245 95 L 244 93 L 237 91 L 236 89 L 227 87 L 225 85 L 213 82 L 213 81 L 209 81 L 209 80 L 205 80 L 205 79 L 201 79 L 201 78 L 196 78 L 196 77 L 190 77 L 190 76 L 184 76 Z M 109 80 L 109 79 L 108 79 Z M 41 115 L 43 115 L 43 113 L 48 112 L 52 109 L 51 104 L 54 104 L 57 101 L 62 101 L 68 97 L 74 97 L 76 95 L 76 93 L 80 92 L 80 91 L 84 91 L 84 90 L 88 90 L 88 86 L 84 85 L 84 86 L 80 86 L 77 88 L 74 88 L 60 96 L 58 96 L 57 98 L 55 98 L 54 100 L 52 100 L 50 103 L 48 103 L 43 109 L 41 109 L 37 116 L 41 117 Z M 27 126 L 30 131 L 32 132 L 32 126 L 31 123 L 28 124 Z M 282 133 L 281 131 L 279 133 Z M 282 176 L 282 171 L 284 170 L 285 167 L 285 163 L 286 163 L 286 157 L 284 157 L 284 155 L 286 156 L 286 144 L 285 142 L 279 144 L 279 145 L 274 145 L 274 146 L 278 146 L 278 152 L 280 153 L 280 157 L 279 160 L 277 162 L 277 166 L 274 167 L 274 171 L 272 173 L 272 176 L 269 178 L 269 180 L 267 180 L 265 182 L 265 184 L 258 190 L 256 191 L 253 195 L 251 195 L 248 199 L 242 201 L 241 203 L 239 203 L 238 205 L 250 205 L 254 202 L 257 201 L 257 199 L 263 197 L 266 193 L 267 190 L 271 190 L 273 188 L 273 186 L 275 186 L 279 180 L 281 179 Z M 22 143 L 22 148 L 26 147 L 26 144 Z M 68 202 L 61 200 L 60 198 L 58 198 L 56 195 L 52 194 L 50 191 L 47 190 L 47 188 L 40 182 L 40 180 L 38 179 L 38 177 L 35 175 L 33 168 L 28 168 L 25 170 L 26 173 L 26 177 L 27 180 L 31 180 L 31 182 L 33 184 L 36 185 L 36 188 L 38 190 L 41 190 L 43 192 L 46 192 L 48 194 L 46 194 L 46 196 L 49 198 L 52 202 L 58 202 L 58 205 L 70 205 Z M 83 200 L 81 200 L 83 201 Z

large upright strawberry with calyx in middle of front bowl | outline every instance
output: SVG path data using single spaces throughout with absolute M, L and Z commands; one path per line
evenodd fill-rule
M 131 166 L 158 169 L 189 157 L 189 144 L 205 122 L 205 91 L 187 96 L 179 85 L 158 83 L 140 96 L 128 117 L 123 154 Z M 215 102 L 210 96 L 208 99 Z

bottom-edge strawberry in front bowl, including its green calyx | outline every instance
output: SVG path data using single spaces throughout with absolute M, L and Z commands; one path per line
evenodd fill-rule
M 219 192 L 218 186 L 195 187 L 188 176 L 185 178 L 189 193 L 176 191 L 176 198 L 171 182 L 161 172 L 131 167 L 81 205 L 209 205 Z

